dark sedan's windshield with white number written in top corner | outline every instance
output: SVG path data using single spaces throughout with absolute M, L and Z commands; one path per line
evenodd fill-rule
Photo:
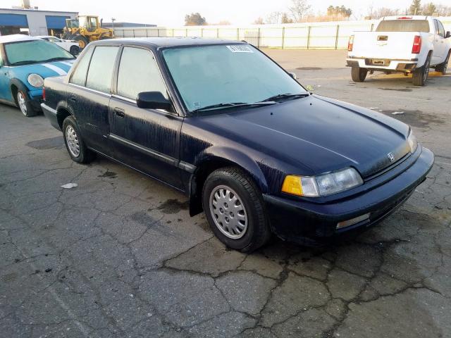
M 280 94 L 308 94 L 270 58 L 247 44 L 170 48 L 163 50 L 163 57 L 189 111 L 250 104 Z

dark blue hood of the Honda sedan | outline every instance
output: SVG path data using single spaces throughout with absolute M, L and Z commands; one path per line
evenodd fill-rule
M 314 175 L 352 166 L 368 177 L 409 154 L 409 126 L 323 96 L 211 115 L 205 122 L 240 144 Z

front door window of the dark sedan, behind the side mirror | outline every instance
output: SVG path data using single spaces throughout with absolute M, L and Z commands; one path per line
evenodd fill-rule
M 152 52 L 124 47 L 118 71 L 118 95 L 135 100 L 140 92 L 161 92 L 168 98 Z

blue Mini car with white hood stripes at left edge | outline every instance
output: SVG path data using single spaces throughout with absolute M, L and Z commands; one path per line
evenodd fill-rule
M 23 115 L 40 111 L 44 78 L 66 75 L 75 58 L 56 44 L 27 35 L 0 37 L 0 102 Z

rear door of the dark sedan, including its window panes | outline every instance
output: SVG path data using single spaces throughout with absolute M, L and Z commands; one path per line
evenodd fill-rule
M 109 102 L 119 46 L 91 46 L 69 80 L 67 102 L 89 147 L 111 155 Z

